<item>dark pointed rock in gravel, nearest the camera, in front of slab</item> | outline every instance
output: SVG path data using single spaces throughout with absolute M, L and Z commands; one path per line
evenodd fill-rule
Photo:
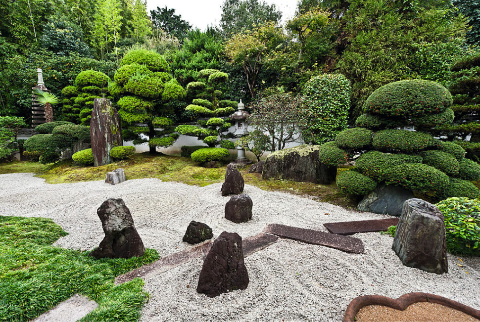
M 228 291 L 245 289 L 248 282 L 241 237 L 236 232 L 224 231 L 215 239 L 203 261 L 196 291 L 215 297 Z

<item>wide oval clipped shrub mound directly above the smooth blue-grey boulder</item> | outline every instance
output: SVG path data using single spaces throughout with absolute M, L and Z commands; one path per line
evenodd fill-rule
M 386 184 L 393 184 L 407 190 L 427 192 L 444 189 L 449 178 L 446 174 L 423 163 L 404 163 L 385 170 Z

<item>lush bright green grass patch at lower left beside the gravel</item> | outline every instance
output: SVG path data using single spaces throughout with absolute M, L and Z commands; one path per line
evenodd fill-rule
M 76 293 L 98 308 L 85 321 L 137 321 L 148 298 L 136 278 L 114 285 L 115 276 L 158 259 L 101 259 L 88 251 L 53 247 L 67 233 L 45 218 L 0 217 L 0 321 L 28 321 Z

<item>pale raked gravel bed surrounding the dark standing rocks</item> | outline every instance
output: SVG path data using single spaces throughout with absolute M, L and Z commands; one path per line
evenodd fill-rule
M 0 175 L 0 215 L 47 217 L 69 232 L 55 245 L 92 249 L 103 238 L 96 209 L 107 198 L 123 198 L 147 248 L 165 256 L 188 247 L 182 237 L 190 221 L 207 224 L 214 238 L 222 231 L 248 237 L 277 223 L 327 231 L 323 223 L 388 218 L 345 210 L 328 203 L 245 185 L 253 200 L 253 218 L 234 224 L 224 218 L 221 184 L 205 187 L 129 180 L 46 184 L 32 174 Z M 480 259 L 448 255 L 449 273 L 436 275 L 401 264 L 391 250 L 393 239 L 378 232 L 354 235 L 366 254 L 287 239 L 245 259 L 248 288 L 216 298 L 196 293 L 201 259 L 147 278 L 150 301 L 143 321 L 340 321 L 349 302 L 360 295 L 397 298 L 429 292 L 480 308 Z M 462 265 L 459 266 L 459 265 Z

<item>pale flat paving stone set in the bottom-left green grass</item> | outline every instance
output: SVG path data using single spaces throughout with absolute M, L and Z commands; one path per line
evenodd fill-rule
M 68 300 L 58 304 L 48 312 L 45 312 L 33 322 L 75 322 L 98 307 L 95 301 L 89 300 L 82 295 L 74 295 Z

